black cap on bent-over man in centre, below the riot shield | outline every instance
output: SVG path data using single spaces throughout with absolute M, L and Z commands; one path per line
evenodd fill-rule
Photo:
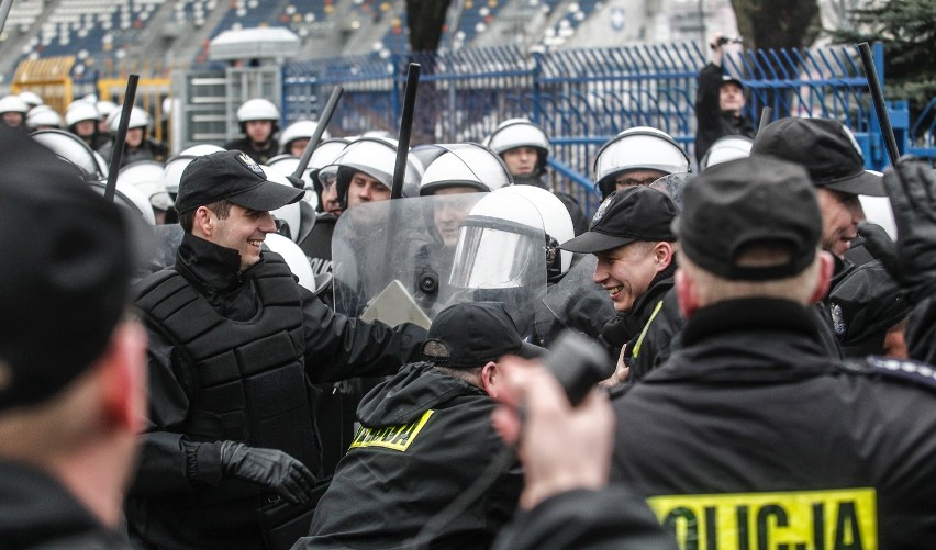
M 453 369 L 483 367 L 506 355 L 532 359 L 546 352 L 523 341 L 501 302 L 467 302 L 441 311 L 422 351 L 426 361 Z

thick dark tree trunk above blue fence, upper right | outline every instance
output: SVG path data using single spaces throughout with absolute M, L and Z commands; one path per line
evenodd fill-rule
M 811 44 L 820 31 L 816 0 L 732 0 L 746 48 Z

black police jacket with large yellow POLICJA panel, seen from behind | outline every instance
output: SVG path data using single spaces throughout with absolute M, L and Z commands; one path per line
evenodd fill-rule
M 932 549 L 934 369 L 832 360 L 807 315 L 771 299 L 697 312 L 683 348 L 613 400 L 612 479 L 699 548 Z

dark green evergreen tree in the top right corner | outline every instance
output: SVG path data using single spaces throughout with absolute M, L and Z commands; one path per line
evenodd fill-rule
M 936 2 L 888 0 L 855 10 L 850 20 L 854 26 L 835 32 L 834 38 L 845 44 L 884 43 L 885 94 L 906 98 L 914 120 L 936 97 Z

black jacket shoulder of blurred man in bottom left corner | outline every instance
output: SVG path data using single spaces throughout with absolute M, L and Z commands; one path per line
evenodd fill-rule
M 130 541 L 48 474 L 0 461 L 0 548 L 111 550 L 129 549 Z

